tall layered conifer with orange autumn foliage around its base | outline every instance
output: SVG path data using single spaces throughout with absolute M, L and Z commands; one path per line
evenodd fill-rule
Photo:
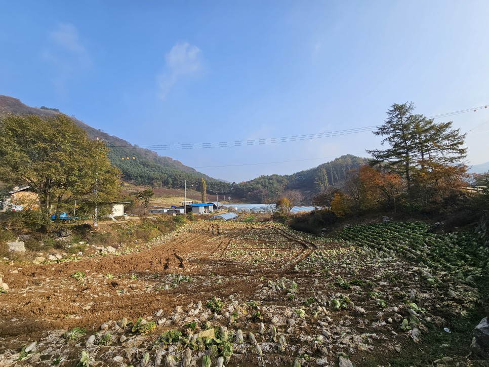
M 384 124 L 374 131 L 385 137 L 386 149 L 368 150 L 371 165 L 402 177 L 409 205 L 432 210 L 440 203 L 460 196 L 466 178 L 463 160 L 465 134 L 452 129 L 452 122 L 435 123 L 433 118 L 415 114 L 413 103 L 393 104 Z

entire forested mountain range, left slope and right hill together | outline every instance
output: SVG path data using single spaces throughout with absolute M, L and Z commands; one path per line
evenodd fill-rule
M 61 113 L 57 108 L 29 107 L 19 99 L 0 95 L 0 115 L 7 113 L 54 116 Z M 249 202 L 264 202 L 277 199 L 284 191 L 298 190 L 305 197 L 304 203 L 327 186 L 339 185 L 346 173 L 367 162 L 366 158 L 354 155 L 343 155 L 331 162 L 316 168 L 294 173 L 292 175 L 260 176 L 254 180 L 236 183 L 223 182 L 183 165 L 180 161 L 167 156 L 160 156 L 154 151 L 132 145 L 126 140 L 109 135 L 101 130 L 78 120 L 70 118 L 79 127 L 87 131 L 91 139 L 97 137 L 110 148 L 111 164 L 123 174 L 123 179 L 137 185 L 152 187 L 183 188 L 187 186 L 200 190 L 201 178 L 206 180 L 207 192 L 232 195 L 235 199 Z M 134 158 L 133 158 L 134 157 Z M 124 159 L 123 159 L 124 158 Z

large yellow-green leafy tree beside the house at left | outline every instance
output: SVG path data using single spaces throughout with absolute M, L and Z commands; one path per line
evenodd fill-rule
M 74 200 L 114 200 L 119 171 L 110 165 L 107 152 L 101 141 L 88 139 L 63 114 L 0 118 L 0 180 L 29 185 L 37 194 L 42 230 L 50 213 L 71 209 Z

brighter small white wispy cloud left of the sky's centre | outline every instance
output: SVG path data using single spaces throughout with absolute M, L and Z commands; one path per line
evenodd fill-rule
M 202 51 L 189 43 L 177 43 L 165 55 L 166 71 L 158 75 L 159 97 L 165 99 L 181 77 L 198 74 L 202 70 Z

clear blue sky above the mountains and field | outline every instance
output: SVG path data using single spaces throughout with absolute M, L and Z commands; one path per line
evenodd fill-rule
M 2 8 L 0 94 L 140 146 L 381 125 L 406 101 L 428 116 L 489 105 L 485 0 L 20 0 Z M 489 108 L 449 120 L 470 130 L 469 163 L 488 161 Z M 380 140 L 363 132 L 157 152 L 240 182 L 367 156 Z M 263 164 L 279 161 L 289 162 Z

